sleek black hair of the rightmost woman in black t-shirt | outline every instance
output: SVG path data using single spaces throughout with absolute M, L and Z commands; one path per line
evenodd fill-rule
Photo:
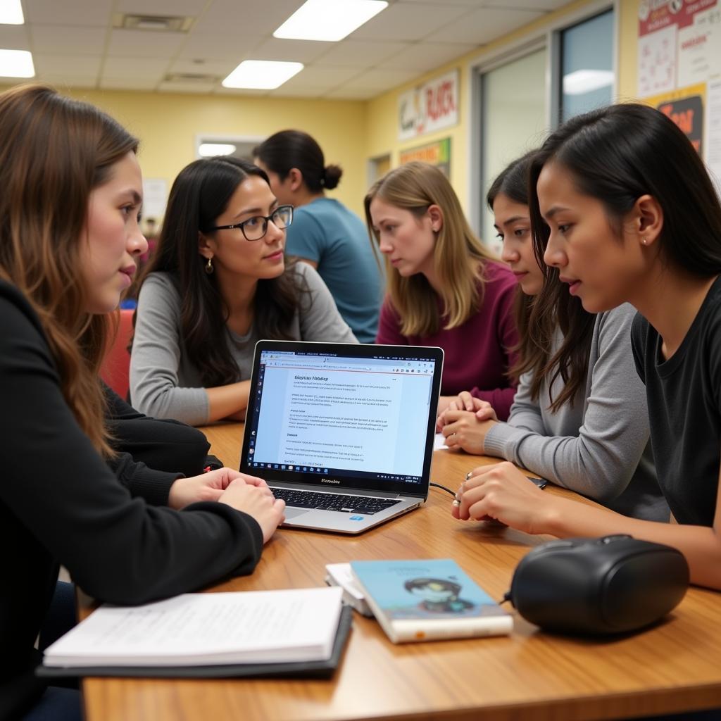
M 660 252 L 691 275 L 721 272 L 721 203 L 702 159 L 676 123 L 648 105 L 611 105 L 577 115 L 554 131 L 530 169 L 531 225 L 543 225 L 536 183 L 544 165 L 567 169 L 580 193 L 597 198 L 620 233 L 636 200 L 651 195 L 663 210 Z M 541 257 L 544 244 L 536 238 Z M 552 270 L 548 270 L 551 273 Z

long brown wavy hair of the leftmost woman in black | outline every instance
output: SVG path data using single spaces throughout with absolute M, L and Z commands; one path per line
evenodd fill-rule
M 63 397 L 93 446 L 113 455 L 98 371 L 112 321 L 87 312 L 81 244 L 90 193 L 138 141 L 50 87 L 0 94 L 0 277 L 40 318 Z

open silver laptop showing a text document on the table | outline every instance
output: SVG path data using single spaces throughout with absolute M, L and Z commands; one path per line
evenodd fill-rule
M 261 340 L 240 470 L 284 525 L 359 534 L 428 498 L 441 348 Z

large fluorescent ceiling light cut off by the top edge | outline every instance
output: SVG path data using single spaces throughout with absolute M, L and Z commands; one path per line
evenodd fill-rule
M 386 7 L 385 0 L 306 0 L 273 37 L 337 42 Z

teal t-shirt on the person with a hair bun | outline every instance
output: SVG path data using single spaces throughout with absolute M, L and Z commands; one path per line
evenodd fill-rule
M 361 218 L 337 200 L 296 208 L 286 252 L 318 264 L 338 311 L 362 343 L 376 339 L 385 279 Z

